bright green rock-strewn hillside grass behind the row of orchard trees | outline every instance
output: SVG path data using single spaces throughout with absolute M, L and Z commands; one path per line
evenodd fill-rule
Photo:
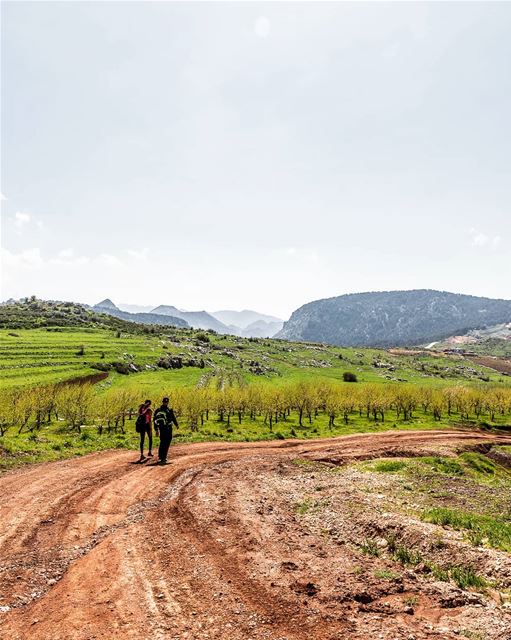
M 209 342 L 197 338 L 206 335 Z M 163 370 L 161 357 L 201 358 L 204 369 Z M 460 356 L 396 355 L 377 349 L 346 349 L 280 340 L 249 340 L 202 332 L 137 335 L 104 329 L 0 330 L 0 388 L 35 386 L 90 375 L 112 363 L 135 365 L 131 375 L 112 375 L 116 386 L 140 386 L 156 380 L 194 385 L 215 369 L 235 370 L 246 382 L 268 384 L 299 380 L 342 380 L 354 372 L 360 382 L 408 381 L 443 386 L 453 381 L 509 383 L 509 378 Z M 251 364 L 252 363 L 252 364 Z M 256 364 L 254 364 L 256 363 Z

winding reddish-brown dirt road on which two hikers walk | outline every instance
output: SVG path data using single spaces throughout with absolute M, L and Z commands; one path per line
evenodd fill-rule
M 335 580 L 347 584 L 348 550 L 301 530 L 278 494 L 274 504 L 261 496 L 296 458 L 342 464 L 497 442 L 511 438 L 409 431 L 205 443 L 173 447 L 166 467 L 109 451 L 8 472 L 0 477 L 0 637 L 451 637 L 435 630 L 439 616 L 405 624 L 396 614 L 387 625 L 354 610 L 363 604 L 356 594 L 334 596 L 325 583 L 320 597 L 301 564 L 325 570 L 326 562 L 328 573 L 342 559 Z

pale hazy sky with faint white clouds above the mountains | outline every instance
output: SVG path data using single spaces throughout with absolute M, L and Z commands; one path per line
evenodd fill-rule
M 1 292 L 511 298 L 511 3 L 2 2 Z

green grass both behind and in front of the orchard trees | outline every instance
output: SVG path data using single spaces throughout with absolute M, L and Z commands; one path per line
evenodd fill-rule
M 175 369 L 158 366 L 161 359 L 169 358 L 180 358 L 183 366 Z M 129 373 L 119 373 L 119 366 Z M 479 393 L 481 389 L 497 386 L 511 388 L 511 378 L 460 356 L 244 339 L 178 329 L 154 333 L 83 327 L 0 330 L 0 394 L 16 390 L 28 393 L 34 387 L 85 379 L 99 370 L 105 370 L 106 379 L 94 386 L 96 398 L 104 395 L 108 402 L 111 394 L 124 391 L 139 399 L 136 404 L 146 396 L 153 397 L 155 389 L 158 394 L 172 397 L 179 395 L 180 389 L 203 389 L 208 384 L 218 391 L 233 380 L 238 387 L 255 385 L 263 394 L 265 389 L 275 392 L 279 388 L 289 393 L 292 385 L 301 382 L 336 383 L 344 385 L 344 389 L 362 389 L 364 383 L 376 383 L 382 389 L 417 387 L 431 388 L 434 392 L 453 385 L 477 389 Z M 343 382 L 347 372 L 355 374 L 362 384 L 350 386 Z M 371 419 L 369 412 L 366 415 L 355 409 L 348 423 L 338 415 L 332 424 L 323 408 L 311 412 L 300 426 L 297 411 L 289 405 L 287 413 L 278 410 L 281 415 L 273 423 L 268 422 L 263 411 L 253 416 L 245 411 L 240 420 L 233 412 L 227 420 L 220 420 L 212 409 L 209 418 L 194 429 L 187 417 L 188 409 L 185 410 L 194 394 L 195 391 L 189 393 L 181 406 L 178 442 L 314 438 L 397 428 L 442 428 L 460 423 L 505 428 L 511 422 L 507 413 L 497 413 L 488 424 L 487 418 L 463 416 L 456 409 L 444 414 L 441 420 L 435 420 L 430 411 L 417 410 L 413 417 L 405 419 L 388 409 L 383 422 Z M 77 432 L 69 428 L 65 418 L 56 417 L 44 421 L 37 429 L 18 431 L 10 428 L 0 437 L 0 468 L 111 447 L 137 447 L 133 419 L 128 419 L 123 428 L 116 422 L 115 429 L 98 429 L 85 423 Z

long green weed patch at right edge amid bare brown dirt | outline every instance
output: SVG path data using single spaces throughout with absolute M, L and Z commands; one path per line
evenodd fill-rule
M 503 519 L 445 507 L 428 509 L 421 514 L 421 519 L 458 531 L 469 531 L 471 542 L 478 542 L 478 546 L 486 540 L 495 549 L 511 552 L 511 523 Z

